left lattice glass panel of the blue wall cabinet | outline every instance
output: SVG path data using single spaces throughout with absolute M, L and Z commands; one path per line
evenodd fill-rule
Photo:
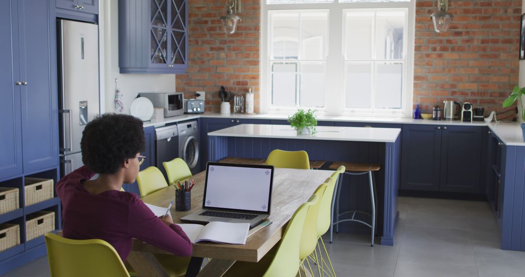
M 150 0 L 150 66 L 152 68 L 170 68 L 168 26 L 170 18 L 168 14 L 168 1 Z

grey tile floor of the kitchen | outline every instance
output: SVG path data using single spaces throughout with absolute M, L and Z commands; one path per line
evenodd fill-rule
M 399 210 L 394 247 L 345 233 L 326 244 L 338 276 L 525 276 L 525 252 L 499 249 L 488 203 L 400 197 Z M 47 257 L 4 276 L 49 276 Z

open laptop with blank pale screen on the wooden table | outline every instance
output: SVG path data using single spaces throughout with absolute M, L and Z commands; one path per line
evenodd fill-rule
M 274 166 L 208 162 L 202 209 L 181 218 L 188 222 L 258 225 L 270 215 Z

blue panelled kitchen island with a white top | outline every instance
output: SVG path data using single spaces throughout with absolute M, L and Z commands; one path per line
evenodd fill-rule
M 377 189 L 377 235 L 382 245 L 393 246 L 398 218 L 397 194 L 401 173 L 401 129 L 318 126 L 317 134 L 297 135 L 290 126 L 241 124 L 209 132 L 208 161 L 226 157 L 266 158 L 274 149 L 308 152 L 309 158 L 350 163 L 379 163 L 375 172 Z M 368 180 L 344 175 L 341 210 L 371 211 Z M 313 193 L 313 191 L 312 191 Z M 362 216 L 361 220 L 370 221 Z M 341 223 L 343 232 L 370 233 L 370 228 L 355 222 Z

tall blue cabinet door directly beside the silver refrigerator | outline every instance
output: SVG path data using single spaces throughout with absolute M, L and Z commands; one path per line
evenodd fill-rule
M 58 166 L 57 56 L 54 1 L 17 0 L 15 81 L 20 94 L 24 173 Z M 51 5 L 53 4 L 53 5 Z

